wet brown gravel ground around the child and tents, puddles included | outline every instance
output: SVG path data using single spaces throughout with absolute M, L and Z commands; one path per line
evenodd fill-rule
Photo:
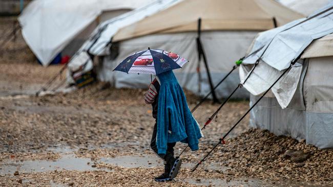
M 11 27 L 8 21 L 0 24 Z M 250 129 L 248 116 L 225 145 L 190 172 L 249 108 L 248 101 L 228 102 L 203 131 L 200 150 L 182 155 L 178 177 L 155 182 L 163 165 L 149 146 L 154 119 L 143 102 L 145 90 L 97 83 L 35 97 L 61 66 L 37 64 L 19 36 L 0 56 L 0 186 L 333 185 L 332 150 Z M 199 98 L 186 96 L 194 107 Z M 194 116 L 204 124 L 218 106 L 205 102 Z M 176 155 L 184 147 L 177 144 Z

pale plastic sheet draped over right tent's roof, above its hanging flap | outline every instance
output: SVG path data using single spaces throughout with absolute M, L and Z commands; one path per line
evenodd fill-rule
M 323 10 L 331 7 L 333 3 Z M 261 57 L 265 63 L 279 71 L 288 68 L 293 59 L 299 57 L 313 40 L 333 33 L 332 13 L 331 9 L 305 22 L 300 23 L 305 20 L 302 18 L 281 28 L 261 33 L 256 38 L 252 51 L 259 49 L 263 44 L 264 48 L 246 58 L 243 63 L 254 64 Z

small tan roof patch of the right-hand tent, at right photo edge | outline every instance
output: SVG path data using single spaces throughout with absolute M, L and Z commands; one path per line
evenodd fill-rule
M 333 56 L 333 34 L 313 41 L 304 51 L 301 58 Z

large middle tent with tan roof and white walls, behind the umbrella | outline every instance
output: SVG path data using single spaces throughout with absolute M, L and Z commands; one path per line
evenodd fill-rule
M 197 20 L 202 19 L 201 40 L 210 66 L 213 83 L 217 84 L 230 71 L 234 62 L 245 55 L 246 49 L 258 33 L 286 22 L 302 17 L 275 1 L 266 0 L 184 0 L 148 17 L 135 20 L 127 27 L 118 27 L 118 22 L 96 34 L 97 40 L 87 42 L 82 51 L 94 55 L 106 55 L 105 43 L 113 38 L 113 44 L 119 46 L 119 54 L 104 58 L 99 67 L 98 76 L 102 81 L 110 81 L 116 87 L 146 87 L 150 81 L 148 75 L 123 74 L 112 69 L 128 55 L 144 50 L 163 49 L 172 51 L 188 59 L 190 63 L 175 71 L 179 83 L 199 95 L 210 91 L 206 71 L 201 64 L 200 81 L 196 72 Z M 129 16 L 128 19 L 133 19 Z M 112 28 L 120 28 L 114 32 Z M 97 33 L 97 32 L 96 32 Z M 101 53 L 102 51 L 102 53 Z M 110 54 L 110 53 L 109 53 Z M 217 90 L 218 97 L 224 97 L 239 82 L 237 73 L 232 74 Z M 199 84 L 200 83 L 200 84 Z M 238 92 L 238 98 L 248 94 Z

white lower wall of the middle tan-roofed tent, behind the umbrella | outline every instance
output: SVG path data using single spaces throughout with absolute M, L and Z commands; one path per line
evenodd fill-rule
M 207 61 L 211 70 L 213 84 L 216 85 L 226 74 L 231 71 L 235 61 L 244 56 L 246 49 L 251 44 L 257 32 L 254 31 L 215 31 L 201 33 L 201 40 L 205 50 Z M 102 81 L 110 81 L 116 87 L 145 88 L 150 82 L 150 75 L 126 74 L 112 72 L 127 56 L 134 52 L 144 50 L 148 46 L 151 49 L 164 49 L 181 57 L 188 59 L 183 68 L 175 72 L 180 85 L 186 89 L 205 95 L 209 92 L 210 86 L 206 75 L 203 61 L 200 62 L 202 80 L 200 81 L 201 91 L 198 92 L 198 53 L 196 43 L 196 32 L 178 34 L 149 35 L 120 42 L 119 56 L 112 60 L 105 57 L 103 64 L 98 67 L 98 76 Z M 227 47 L 226 47 L 227 46 Z M 216 90 L 217 97 L 226 97 L 239 84 L 237 70 L 230 75 Z M 248 98 L 248 92 L 241 89 L 236 92 L 234 98 Z

